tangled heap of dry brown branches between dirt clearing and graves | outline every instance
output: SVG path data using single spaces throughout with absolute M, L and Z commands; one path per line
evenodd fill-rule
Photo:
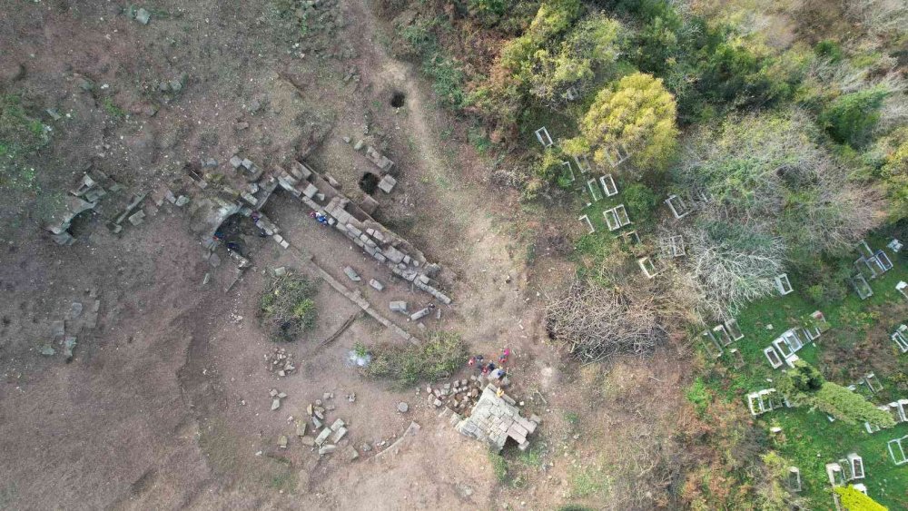
M 575 280 L 548 302 L 548 334 L 583 363 L 613 355 L 651 353 L 667 339 L 652 299 L 635 300 L 617 288 Z

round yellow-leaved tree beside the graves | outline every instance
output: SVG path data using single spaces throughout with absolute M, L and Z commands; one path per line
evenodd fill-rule
M 593 151 L 598 163 L 624 146 L 640 168 L 662 170 L 675 150 L 675 98 L 662 81 L 635 73 L 599 91 L 581 123 L 581 136 L 564 144 L 565 152 Z

